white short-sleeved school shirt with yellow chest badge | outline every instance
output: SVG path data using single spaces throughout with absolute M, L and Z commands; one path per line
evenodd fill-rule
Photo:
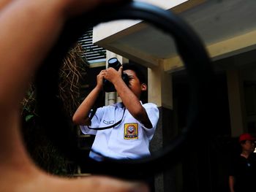
M 80 126 L 83 134 L 95 134 L 94 143 L 91 147 L 90 158 L 101 161 L 100 153 L 109 158 L 140 158 L 150 155 L 149 142 L 154 136 L 159 119 L 159 110 L 156 104 L 143 104 L 152 128 L 146 128 L 138 120 L 132 117 L 129 111 L 124 111 L 122 103 L 99 107 L 91 119 L 90 128 L 111 126 L 121 120 L 121 123 L 113 128 L 105 130 L 92 130 L 88 126 Z M 94 153 L 96 151 L 97 153 Z

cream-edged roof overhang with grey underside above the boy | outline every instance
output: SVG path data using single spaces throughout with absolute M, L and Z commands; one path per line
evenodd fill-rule
M 165 7 L 195 29 L 213 60 L 255 50 L 255 8 L 256 1 L 243 0 L 176 1 Z M 141 20 L 96 26 L 94 43 L 148 67 L 163 64 L 167 72 L 183 68 L 172 39 Z

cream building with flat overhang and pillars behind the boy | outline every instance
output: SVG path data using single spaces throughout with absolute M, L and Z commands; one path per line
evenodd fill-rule
M 195 138 L 184 151 L 184 161 L 157 174 L 157 191 L 227 191 L 227 156 L 233 140 L 244 132 L 256 134 L 256 1 L 147 2 L 174 12 L 195 30 L 210 55 L 217 82 L 216 127 Z M 93 33 L 94 44 L 106 50 L 105 61 L 117 57 L 121 63 L 145 67 L 148 101 L 157 104 L 161 114 L 151 150 L 165 147 L 186 126 L 189 107 L 186 69 L 173 38 L 143 20 L 102 23 Z M 106 93 L 105 104 L 116 101 L 115 93 Z

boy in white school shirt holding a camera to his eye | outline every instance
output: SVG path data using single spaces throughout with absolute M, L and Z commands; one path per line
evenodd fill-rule
M 122 80 L 123 73 L 128 76 L 127 84 Z M 114 85 L 122 102 L 99 107 L 90 118 L 91 108 L 103 90 L 104 79 Z M 143 73 L 134 64 L 124 64 L 118 71 L 109 67 L 99 72 L 97 85 L 73 115 L 73 122 L 80 125 L 83 134 L 96 135 L 89 155 L 91 158 L 100 161 L 102 155 L 117 159 L 150 155 L 149 142 L 157 127 L 159 110 L 156 104 L 140 101 L 146 90 Z M 111 125 L 114 126 L 101 129 Z

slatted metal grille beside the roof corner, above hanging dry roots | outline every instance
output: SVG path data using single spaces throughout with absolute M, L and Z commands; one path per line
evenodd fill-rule
M 90 28 L 89 31 L 86 31 L 86 33 L 78 39 L 78 42 L 85 50 L 86 59 L 89 64 L 103 62 L 106 60 L 106 50 L 92 43 L 92 34 L 93 28 Z

